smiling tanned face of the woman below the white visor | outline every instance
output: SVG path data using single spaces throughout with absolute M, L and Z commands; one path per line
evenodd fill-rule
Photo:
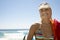
M 51 8 L 42 8 L 39 10 L 41 18 L 47 17 L 48 19 L 51 18 L 52 10 Z

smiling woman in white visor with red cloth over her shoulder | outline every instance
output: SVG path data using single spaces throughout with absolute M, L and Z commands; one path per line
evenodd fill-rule
M 31 26 L 27 40 L 32 40 L 34 35 L 36 40 L 60 40 L 58 27 L 56 25 L 59 22 L 52 20 L 52 10 L 49 4 L 42 3 L 39 6 L 39 12 L 41 17 L 41 23 L 35 23 Z

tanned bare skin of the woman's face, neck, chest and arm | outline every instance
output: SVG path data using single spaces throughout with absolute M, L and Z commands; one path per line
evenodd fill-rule
M 27 40 L 32 40 L 33 36 L 36 35 L 35 34 L 36 30 L 39 27 L 41 27 L 40 29 L 42 30 L 43 36 L 45 38 L 50 38 L 51 35 L 52 35 L 52 29 L 51 29 L 52 25 L 51 25 L 51 22 L 50 22 L 50 20 L 52 19 L 51 18 L 51 15 L 52 15 L 51 8 L 42 8 L 42 9 L 39 10 L 39 12 L 40 12 L 40 17 L 42 19 L 41 20 L 42 24 L 35 23 L 31 26 L 31 28 L 29 30 L 29 33 L 28 33 Z M 47 33 L 47 32 L 49 32 L 49 33 Z M 36 39 L 36 40 L 44 40 L 44 39 Z

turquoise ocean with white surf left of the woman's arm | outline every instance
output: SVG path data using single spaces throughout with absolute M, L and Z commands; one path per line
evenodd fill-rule
M 0 40 L 23 40 L 28 31 L 29 29 L 0 29 Z

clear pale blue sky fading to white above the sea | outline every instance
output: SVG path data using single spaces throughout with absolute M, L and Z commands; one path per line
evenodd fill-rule
M 52 18 L 60 21 L 60 0 L 0 0 L 0 29 L 29 29 L 40 23 L 38 6 L 47 2 Z

